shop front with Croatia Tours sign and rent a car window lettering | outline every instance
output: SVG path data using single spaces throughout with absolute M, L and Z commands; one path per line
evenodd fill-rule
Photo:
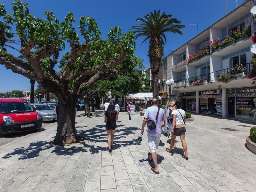
M 253 120 L 256 111 L 256 87 L 227 89 L 228 117 Z

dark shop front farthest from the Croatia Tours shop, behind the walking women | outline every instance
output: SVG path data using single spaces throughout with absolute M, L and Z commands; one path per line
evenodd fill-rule
M 182 93 L 181 98 L 183 110 L 196 112 L 196 92 Z

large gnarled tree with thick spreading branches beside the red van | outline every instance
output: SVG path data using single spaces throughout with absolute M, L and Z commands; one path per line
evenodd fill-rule
M 20 0 L 12 3 L 11 13 L 0 4 L 0 64 L 57 96 L 60 111 L 53 143 L 58 145 L 76 142 L 75 106 L 81 93 L 98 80 L 133 67 L 132 32 L 110 28 L 107 39 L 101 39 L 92 17 L 80 17 L 78 29 L 74 23 L 71 12 L 60 22 L 51 11 L 45 12 L 45 19 L 36 18 Z M 8 46 L 15 46 L 17 40 L 20 47 L 14 55 Z M 70 58 L 58 71 L 55 66 L 65 52 Z

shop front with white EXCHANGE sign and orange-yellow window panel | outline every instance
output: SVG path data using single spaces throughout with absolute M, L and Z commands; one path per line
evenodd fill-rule
M 221 89 L 199 91 L 199 113 L 222 116 Z

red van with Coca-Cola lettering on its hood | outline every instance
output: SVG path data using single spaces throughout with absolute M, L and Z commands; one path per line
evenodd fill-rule
M 0 98 L 0 136 L 40 129 L 42 122 L 42 116 L 27 101 Z

